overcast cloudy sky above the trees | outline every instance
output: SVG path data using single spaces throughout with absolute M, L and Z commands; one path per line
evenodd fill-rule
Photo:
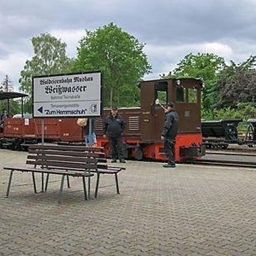
M 114 22 L 146 43 L 152 65 L 145 79 L 168 73 L 188 53 L 209 52 L 228 62 L 256 54 L 256 0 L 0 0 L 0 82 L 33 56 L 31 38 L 42 32 L 67 43 L 67 55 L 85 28 Z

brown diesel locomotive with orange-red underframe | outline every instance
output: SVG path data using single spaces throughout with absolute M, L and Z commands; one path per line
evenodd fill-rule
M 165 160 L 163 142 L 160 136 L 164 123 L 164 110 L 156 104 L 166 106 L 175 103 L 179 114 L 179 133 L 176 137 L 176 162 L 188 159 L 199 159 L 205 155 L 205 146 L 201 135 L 201 86 L 199 79 L 166 79 L 142 81 L 141 106 L 139 108 L 120 108 L 118 110 L 126 121 L 123 133 L 126 157 L 138 160 Z M 102 137 L 102 119 L 96 119 L 97 143 L 109 152 L 108 141 Z

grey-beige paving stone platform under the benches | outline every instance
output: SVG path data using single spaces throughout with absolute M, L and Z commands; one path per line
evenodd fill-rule
M 71 178 L 61 205 L 59 176 L 34 194 L 31 174 L 16 172 L 6 199 L 2 167 L 26 155 L 0 150 L 0 255 L 256 255 L 254 170 L 128 161 L 121 195 L 105 175 L 85 201 Z

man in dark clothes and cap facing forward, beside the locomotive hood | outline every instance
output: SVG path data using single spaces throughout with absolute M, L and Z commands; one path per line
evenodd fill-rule
M 125 163 L 125 159 L 123 158 L 123 130 L 125 130 L 125 120 L 118 114 L 117 108 L 112 106 L 110 114 L 106 117 L 103 124 L 104 137 L 108 135 L 109 139 L 112 163 L 116 163 L 117 158 L 120 163 Z

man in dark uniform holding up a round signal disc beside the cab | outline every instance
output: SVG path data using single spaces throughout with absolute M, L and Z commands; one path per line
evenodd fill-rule
M 175 138 L 178 130 L 179 115 L 175 111 L 174 103 L 167 105 L 166 120 L 162 131 L 161 139 L 164 141 L 164 154 L 168 163 L 163 167 L 175 167 Z

